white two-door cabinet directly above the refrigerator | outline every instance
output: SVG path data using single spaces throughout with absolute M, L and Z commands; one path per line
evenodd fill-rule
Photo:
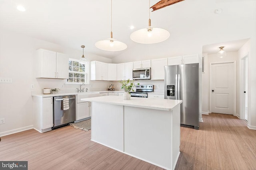
M 192 64 L 199 63 L 198 54 L 195 55 L 182 55 L 177 57 L 168 57 L 168 65 L 179 65 L 179 64 Z

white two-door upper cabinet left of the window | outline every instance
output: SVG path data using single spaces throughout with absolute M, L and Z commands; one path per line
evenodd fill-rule
M 36 78 L 68 79 L 68 56 L 55 51 L 38 49 Z

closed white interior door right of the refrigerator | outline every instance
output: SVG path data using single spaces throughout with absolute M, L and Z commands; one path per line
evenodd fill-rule
M 210 111 L 235 114 L 234 63 L 210 64 Z

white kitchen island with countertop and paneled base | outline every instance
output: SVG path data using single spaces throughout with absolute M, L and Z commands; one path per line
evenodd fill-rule
M 122 96 L 81 100 L 92 102 L 92 141 L 161 168 L 175 168 L 182 100 Z

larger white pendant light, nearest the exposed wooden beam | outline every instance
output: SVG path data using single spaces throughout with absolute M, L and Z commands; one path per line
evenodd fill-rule
M 130 35 L 132 41 L 142 44 L 160 43 L 170 37 L 169 31 L 162 28 L 152 27 L 150 20 L 150 0 L 149 0 L 149 20 L 148 27 L 139 29 Z

